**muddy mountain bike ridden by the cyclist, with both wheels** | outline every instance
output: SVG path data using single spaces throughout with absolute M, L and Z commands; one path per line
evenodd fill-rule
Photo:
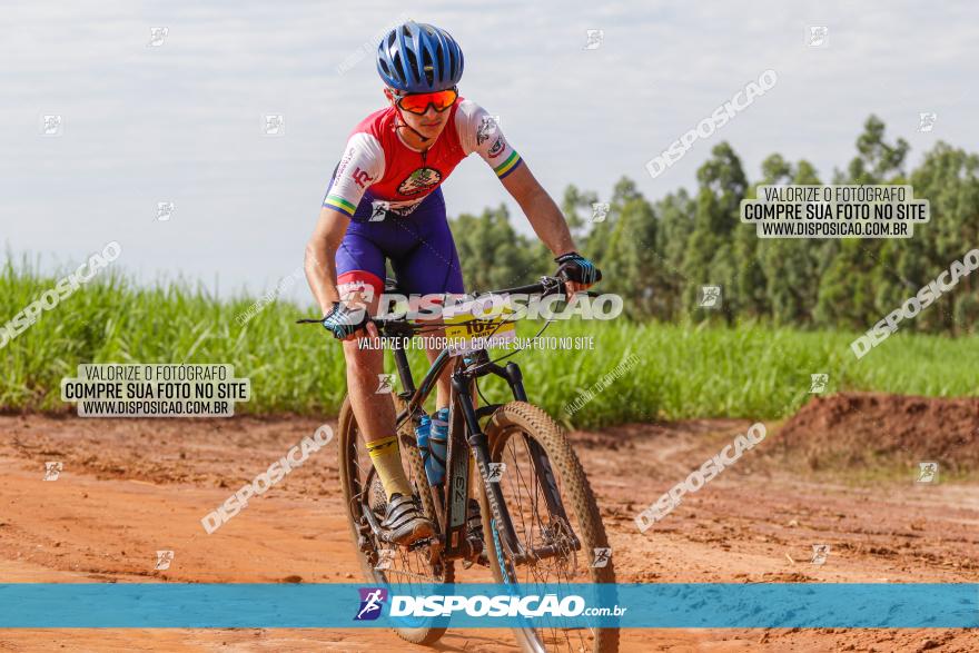
M 540 294 L 543 297 L 554 293 L 564 294 L 563 279 L 542 277 L 537 284 L 481 296 Z M 373 318 L 373 321 L 382 338 L 394 340 L 394 359 L 404 388 L 393 393 L 402 461 L 407 463 L 408 478 L 425 515 L 436 526 L 436 535 L 409 547 L 385 547 L 379 522 L 386 498 L 346 397 L 337 429 L 339 474 L 347 517 L 367 581 L 453 583 L 455 561 L 461 561 L 466 568 L 488 567 L 497 583 L 614 583 L 613 563 L 604 560 L 607 536 L 581 463 L 564 431 L 544 410 L 528 403 L 520 366 L 512 360 L 505 366 L 497 365 L 485 349 L 453 356 L 452 348 L 447 347 L 416 387 L 405 354 L 406 339 L 446 325 L 412 324 L 405 318 Z M 485 326 L 485 320 L 474 318 L 472 321 L 482 321 L 481 327 Z M 547 324 L 550 321 L 537 335 Z M 486 333 L 484 328 L 476 330 Z M 414 427 L 435 380 L 453 358 L 446 474 L 444 483 L 433 487 L 425 474 Z M 512 402 L 485 400 L 477 380 L 490 375 L 506 380 Z M 484 405 L 476 406 L 474 390 Z M 491 468 L 491 464 L 498 463 L 506 465 L 505 472 L 498 481 L 491 481 L 503 469 Z M 473 487 L 475 474 L 482 483 Z M 471 489 L 477 495 L 478 518 Z M 488 534 L 492 546 L 486 546 L 484 534 Z M 602 556 L 606 564 L 595 566 L 596 556 Z M 426 624 L 395 630 L 408 642 L 433 644 L 447 627 Z M 617 629 L 531 626 L 513 630 L 524 651 L 613 653 L 619 649 Z

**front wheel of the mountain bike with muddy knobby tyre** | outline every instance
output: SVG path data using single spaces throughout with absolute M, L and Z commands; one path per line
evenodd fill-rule
M 526 552 L 557 551 L 546 557 L 512 560 L 486 491 L 479 494 L 490 567 L 497 583 L 615 583 L 609 538 L 595 496 L 564 431 L 541 408 L 525 402 L 501 406 L 486 425 L 490 458 L 506 466 L 500 491 L 516 540 Z M 543 457 L 551 478 L 542 477 L 534 458 Z M 547 476 L 544 468 L 543 475 Z M 564 506 L 548 506 L 545 487 L 553 484 Z M 578 546 L 574 546 L 575 538 Z M 526 627 L 514 630 L 524 651 L 614 653 L 617 629 Z

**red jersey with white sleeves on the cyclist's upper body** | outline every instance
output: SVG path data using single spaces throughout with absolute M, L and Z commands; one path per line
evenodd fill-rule
M 501 179 L 521 165 L 520 155 L 485 109 L 458 98 L 448 111 L 445 129 L 424 152 L 409 148 L 398 136 L 395 107 L 367 116 L 347 140 L 323 206 L 353 216 L 369 189 L 374 200 L 405 215 L 474 151 Z

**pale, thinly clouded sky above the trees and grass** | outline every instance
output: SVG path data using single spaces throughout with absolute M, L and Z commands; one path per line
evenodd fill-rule
M 141 283 L 271 289 L 301 266 L 352 128 L 383 107 L 375 34 L 406 19 L 455 37 L 463 96 L 501 117 L 558 202 L 568 184 L 607 199 L 623 175 L 651 200 L 692 189 L 722 140 L 750 179 L 779 152 L 828 180 L 871 113 L 911 165 L 938 140 L 979 150 L 970 2 L 17 1 L 0 16 L 0 241 L 63 269 L 115 240 L 112 265 Z M 811 27 L 827 28 L 815 46 Z M 650 176 L 765 70 L 773 88 Z M 53 135 L 44 116 L 61 117 Z M 266 116 L 283 116 L 280 135 Z M 443 190 L 451 216 L 503 202 L 531 232 L 475 155 Z

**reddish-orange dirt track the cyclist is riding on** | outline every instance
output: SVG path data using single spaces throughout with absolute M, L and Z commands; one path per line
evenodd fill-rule
M 864 407 L 864 414 L 868 408 Z M 810 419 L 818 424 L 818 419 Z M 809 424 L 809 423 L 807 423 Z M 333 425 L 333 424 L 332 424 Z M 572 438 L 620 582 L 979 582 L 979 482 L 790 472 L 769 437 L 645 534 L 633 518 L 748 422 L 634 425 Z M 2 582 L 357 580 L 335 445 L 217 533 L 200 518 L 318 422 L 0 417 Z M 803 425 L 804 426 L 804 425 Z M 976 426 L 979 426 L 977 421 Z M 793 432 L 799 438 L 799 425 Z M 834 428 L 846 429 L 838 422 Z M 44 482 L 46 461 L 63 471 Z M 813 544 L 829 544 L 824 565 Z M 156 551 L 172 550 L 166 572 Z M 473 570 L 461 581 L 484 580 Z M 0 631 L 4 651 L 425 651 L 388 631 Z M 444 651 L 513 651 L 507 631 L 449 631 Z M 979 633 L 882 630 L 624 631 L 623 651 L 976 651 Z

